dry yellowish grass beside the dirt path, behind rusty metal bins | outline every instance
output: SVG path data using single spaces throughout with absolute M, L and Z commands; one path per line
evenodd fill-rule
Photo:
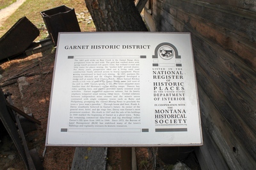
M 3 0 L 0 0 L 3 1 Z M 56 8 L 57 6 L 66 5 L 69 8 L 74 8 L 76 13 L 85 12 L 85 17 L 89 17 L 84 0 L 26 0 L 18 9 L 10 16 L 0 27 L 0 37 L 7 32 L 13 24 L 19 20 L 19 18 L 27 17 L 38 29 L 40 29 L 40 36 L 37 39 L 44 39 L 47 34 L 44 31 L 44 21 L 40 11 L 49 10 L 51 8 Z M 88 24 L 88 22 L 79 22 L 80 29 L 84 31 L 95 31 L 95 25 Z

